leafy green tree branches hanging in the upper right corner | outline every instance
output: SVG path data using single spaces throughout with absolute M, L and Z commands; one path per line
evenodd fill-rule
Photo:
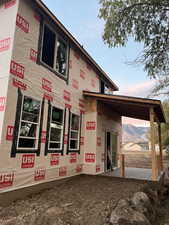
M 144 44 L 135 62 L 159 80 L 154 93 L 169 94 L 169 1 L 100 0 L 105 21 L 103 39 L 109 47 L 125 46 L 129 38 Z

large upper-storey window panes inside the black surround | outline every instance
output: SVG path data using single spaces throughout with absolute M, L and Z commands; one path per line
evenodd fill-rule
M 66 77 L 68 62 L 68 45 L 46 24 L 43 26 L 43 45 L 41 61 L 59 75 Z

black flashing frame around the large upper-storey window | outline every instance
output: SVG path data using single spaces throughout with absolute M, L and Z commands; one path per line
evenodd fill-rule
M 61 39 L 66 45 L 67 45 L 67 63 L 66 63 L 66 75 L 62 75 L 61 73 L 57 72 L 54 68 L 48 66 L 46 63 L 42 61 L 42 49 L 43 49 L 43 34 L 44 34 L 44 26 L 47 26 L 52 32 L 55 33 L 56 37 Z M 57 39 L 57 38 L 56 38 Z M 55 43 L 56 46 L 56 43 Z M 56 53 L 55 53 L 56 55 Z M 55 56 L 54 56 L 55 58 Z M 54 59 L 55 60 L 55 59 Z M 56 61 L 56 60 L 55 60 Z M 47 22 L 43 17 L 41 17 L 40 21 L 40 32 L 39 32 L 39 44 L 38 44 L 38 57 L 37 57 L 37 64 L 45 67 L 46 69 L 50 70 L 52 73 L 54 73 L 56 76 L 64 80 L 67 84 L 69 81 L 69 61 L 70 61 L 70 42 L 68 39 L 61 35 L 61 32 L 59 32 L 58 28 L 56 26 L 53 26 L 53 24 L 50 24 L 50 22 Z

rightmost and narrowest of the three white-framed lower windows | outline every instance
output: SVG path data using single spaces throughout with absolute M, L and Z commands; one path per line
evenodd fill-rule
M 69 150 L 79 150 L 80 116 L 71 113 Z

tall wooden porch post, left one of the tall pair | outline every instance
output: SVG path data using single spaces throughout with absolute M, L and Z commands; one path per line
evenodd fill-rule
M 155 126 L 154 126 L 155 113 L 154 108 L 150 108 L 150 133 L 151 133 L 151 155 L 152 155 L 152 180 L 157 180 L 157 163 L 156 163 L 156 151 L 155 151 Z

